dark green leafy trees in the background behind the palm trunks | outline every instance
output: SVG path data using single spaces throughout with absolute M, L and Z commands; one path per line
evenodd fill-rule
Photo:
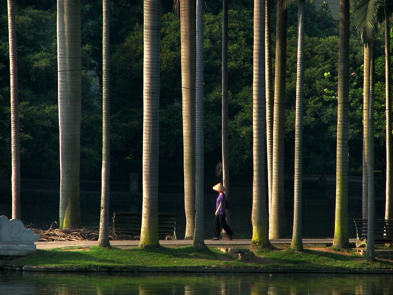
M 18 1 L 17 45 L 23 178 L 59 177 L 56 3 Z M 182 182 L 180 21 L 163 1 L 160 90 L 160 181 Z M 229 162 L 231 182 L 252 182 L 253 1 L 229 1 Z M 81 179 L 99 180 L 102 145 L 102 6 L 82 0 L 83 105 Z M 111 1 L 111 178 L 141 174 L 143 1 Z M 222 1 L 205 7 L 205 183 L 221 161 Z M 275 44 L 275 8 L 272 8 Z M 297 6 L 288 10 L 285 169 L 294 170 Z M 376 50 L 376 169 L 384 170 L 384 47 Z M 0 169 L 10 173 L 10 97 L 6 5 L 0 7 Z M 274 45 L 273 45 L 274 56 Z M 306 4 L 304 173 L 336 171 L 338 21 L 326 6 Z M 362 170 L 363 47 L 352 29 L 350 43 L 351 175 Z M 273 60 L 274 65 L 274 60 Z

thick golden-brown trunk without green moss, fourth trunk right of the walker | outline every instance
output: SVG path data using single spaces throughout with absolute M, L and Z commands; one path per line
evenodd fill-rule
M 273 116 L 273 182 L 269 238 L 285 236 L 284 131 L 287 9 L 277 5 L 276 69 Z

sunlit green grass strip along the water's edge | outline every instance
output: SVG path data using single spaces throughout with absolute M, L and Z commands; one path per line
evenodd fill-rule
M 75 248 L 37 250 L 34 255 L 8 261 L 14 266 L 69 268 L 286 268 L 320 270 L 393 270 L 393 259 L 368 262 L 355 250 L 336 251 L 334 248 L 260 249 L 254 257 L 239 259 L 217 248 L 159 247 L 153 249 Z

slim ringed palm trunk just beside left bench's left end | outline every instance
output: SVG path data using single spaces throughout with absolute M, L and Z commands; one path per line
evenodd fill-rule
M 109 51 L 109 0 L 102 1 L 102 169 L 101 169 L 101 216 L 98 246 L 109 247 L 109 185 L 111 155 L 110 120 L 110 51 Z

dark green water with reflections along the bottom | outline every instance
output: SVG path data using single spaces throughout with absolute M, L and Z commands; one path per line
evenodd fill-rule
M 393 294 L 392 275 L 0 272 L 0 294 Z

